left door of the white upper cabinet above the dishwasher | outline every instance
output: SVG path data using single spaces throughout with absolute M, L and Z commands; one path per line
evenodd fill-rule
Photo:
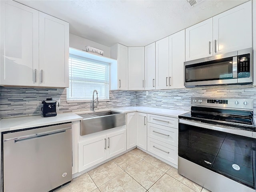
M 0 84 L 38 86 L 38 11 L 0 1 Z

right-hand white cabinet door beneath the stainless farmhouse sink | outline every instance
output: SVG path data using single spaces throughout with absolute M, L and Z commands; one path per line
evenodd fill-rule
M 126 130 L 107 134 L 107 159 L 126 151 Z

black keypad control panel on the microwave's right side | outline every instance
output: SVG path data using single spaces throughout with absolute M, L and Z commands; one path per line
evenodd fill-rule
M 250 77 L 250 54 L 238 56 L 237 72 L 238 78 Z

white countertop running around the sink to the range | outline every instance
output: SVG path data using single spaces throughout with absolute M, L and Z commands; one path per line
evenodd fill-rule
M 144 106 L 128 106 L 128 107 L 118 107 L 110 109 L 96 110 L 96 112 L 113 110 L 120 113 L 129 112 L 143 112 L 156 115 L 164 115 L 169 117 L 178 118 L 179 115 L 184 114 L 188 111 L 183 110 L 173 110 L 173 109 L 162 109 L 154 107 L 144 107 Z M 42 115 L 37 116 L 25 116 L 25 117 L 14 117 L 14 118 L 4 118 L 0 120 L 0 132 L 19 130 L 24 128 L 32 128 L 38 126 L 46 126 L 51 124 L 58 124 L 64 122 L 72 122 L 82 120 L 83 118 L 77 114 L 91 113 L 92 111 L 84 112 L 71 112 L 71 113 L 58 113 L 55 117 L 43 117 Z

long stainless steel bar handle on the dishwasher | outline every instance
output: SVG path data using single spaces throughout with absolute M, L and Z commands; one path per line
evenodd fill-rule
M 59 129 L 59 130 L 52 130 L 52 131 L 46 131 L 46 132 L 42 132 L 42 133 L 36 133 L 36 134 L 30 134 L 30 135 L 26 135 L 26 136 L 5 139 L 5 140 L 3 140 L 3 142 L 10 141 L 10 140 L 14 140 L 14 142 L 30 140 L 30 139 L 34 139 L 34 138 L 40 138 L 40 137 L 44 137 L 44 136 L 60 134 L 60 133 L 66 132 L 66 130 L 68 130 L 68 129 L 71 129 L 71 128 L 63 128 L 63 129 Z

